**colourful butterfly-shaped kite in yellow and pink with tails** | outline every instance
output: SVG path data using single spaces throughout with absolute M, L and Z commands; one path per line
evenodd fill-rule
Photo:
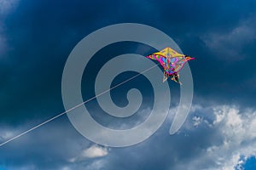
M 165 48 L 160 52 L 148 55 L 147 58 L 160 62 L 160 65 L 164 68 L 163 82 L 166 82 L 167 78 L 171 77 L 172 81 L 180 84 L 178 72 L 182 70 L 186 62 L 195 59 L 188 55 L 178 54 L 172 48 Z

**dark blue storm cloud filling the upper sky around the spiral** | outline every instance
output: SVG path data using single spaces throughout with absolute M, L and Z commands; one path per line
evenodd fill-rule
M 224 92 L 235 101 L 253 98 L 254 8 L 253 1 L 21 1 L 4 20 L 9 50 L 1 62 L 3 115 L 22 109 L 19 115 L 31 116 L 44 105 L 60 110 L 61 72 L 72 48 L 91 31 L 119 22 L 155 26 L 173 37 L 183 53 L 195 56 L 190 65 L 196 94 L 215 99 L 214 94 L 225 102 Z M 237 28 L 244 29 L 232 34 Z M 234 62 L 234 55 L 241 54 L 241 62 Z

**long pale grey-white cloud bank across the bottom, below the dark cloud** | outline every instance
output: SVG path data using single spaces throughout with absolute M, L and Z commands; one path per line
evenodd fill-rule
M 143 143 L 112 148 L 111 152 L 91 144 L 73 129 L 67 118 L 61 118 L 1 147 L 0 163 L 8 164 L 9 169 L 215 170 L 233 169 L 241 164 L 241 156 L 255 155 L 255 109 L 194 105 L 180 131 L 170 136 L 172 111 L 176 110 L 172 108 L 163 126 Z M 9 132 L 17 132 L 11 127 L 1 129 L 4 138 Z

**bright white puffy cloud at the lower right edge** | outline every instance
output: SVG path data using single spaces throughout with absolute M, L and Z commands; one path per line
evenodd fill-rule
M 252 156 L 256 153 L 256 112 L 251 109 L 241 111 L 235 105 L 213 106 L 212 112 L 215 116 L 212 128 L 218 129 L 223 140 L 220 144 L 209 146 L 204 158 L 196 159 L 214 160 L 217 167 L 207 169 L 233 170 L 241 164 L 241 156 Z M 202 122 L 200 120 L 194 116 L 194 125 Z

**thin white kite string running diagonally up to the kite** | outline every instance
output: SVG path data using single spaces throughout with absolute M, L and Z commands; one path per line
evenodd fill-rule
M 157 64 L 157 65 L 159 65 L 159 64 Z M 142 71 L 142 72 L 139 72 L 139 73 L 138 73 L 137 75 L 135 75 L 134 77 L 128 78 L 128 79 L 125 80 L 124 82 L 120 82 L 119 84 L 113 86 L 112 88 L 108 88 L 106 91 L 103 91 L 102 93 L 97 94 L 96 96 L 94 96 L 94 97 L 92 97 L 92 98 L 90 98 L 90 99 L 85 100 L 85 101 L 82 102 L 81 104 L 75 105 L 75 106 L 73 106 L 73 108 L 71 108 L 71 109 L 69 109 L 69 110 L 67 110 L 67 111 L 62 112 L 62 113 L 60 113 L 59 115 L 53 116 L 52 118 L 46 120 L 45 122 L 42 122 L 42 123 L 38 124 L 37 126 L 32 127 L 32 128 L 30 128 L 30 129 L 26 130 L 25 132 L 20 133 L 20 134 L 16 135 L 15 137 L 11 138 L 11 139 L 6 140 L 6 141 L 3 142 L 2 144 L 0 144 L 0 147 L 3 146 L 4 144 L 7 144 L 7 143 L 9 143 L 9 142 L 11 142 L 11 141 L 13 141 L 13 140 L 19 138 L 20 136 L 23 136 L 23 135 L 26 134 L 26 133 L 31 132 L 32 130 L 34 130 L 34 129 L 38 128 L 38 127 L 43 126 L 44 124 L 46 124 L 46 123 L 48 123 L 48 122 L 51 122 L 51 121 L 55 120 L 56 118 L 58 118 L 58 117 L 60 117 L 60 116 L 63 116 L 63 115 L 65 115 L 65 114 L 67 114 L 67 112 L 69 112 L 69 111 L 73 111 L 74 109 L 78 108 L 79 106 L 84 105 L 84 104 L 90 102 L 90 100 L 96 99 L 97 97 L 101 96 L 102 94 L 108 93 L 108 92 L 111 91 L 113 88 L 118 88 L 120 85 L 124 84 L 125 82 L 131 81 L 132 79 L 138 77 L 139 75 L 141 75 L 141 74 L 143 74 L 143 73 L 145 73 L 145 72 L 147 72 L 147 71 L 153 69 L 153 68 L 156 67 L 157 65 L 154 65 L 154 66 L 152 66 L 152 67 L 150 67 L 150 68 L 148 68 L 148 69 L 146 69 L 146 70 L 144 70 L 144 71 Z

